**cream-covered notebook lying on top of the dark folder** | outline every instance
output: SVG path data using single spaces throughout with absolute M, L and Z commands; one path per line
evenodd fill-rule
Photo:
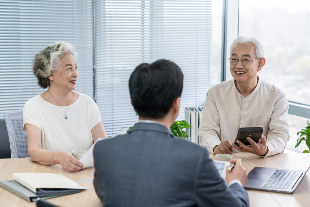
M 13 173 L 12 178 L 34 193 L 37 193 L 37 188 L 87 190 L 85 187 L 58 173 Z

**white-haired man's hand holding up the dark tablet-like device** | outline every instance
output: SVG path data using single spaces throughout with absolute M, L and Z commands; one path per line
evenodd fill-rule
M 262 135 L 262 137 L 260 138 L 260 141 L 257 143 L 254 142 L 253 139 L 251 139 L 251 137 L 246 137 L 246 139 L 250 142 L 251 146 L 247 146 L 243 144 L 242 142 L 240 142 L 239 140 L 237 140 L 237 143 L 240 146 L 237 146 L 235 143 L 232 143 L 232 145 L 241 152 L 250 152 L 256 155 L 260 155 L 260 156 L 264 156 L 267 154 L 268 147 L 267 147 L 267 140 L 265 136 Z

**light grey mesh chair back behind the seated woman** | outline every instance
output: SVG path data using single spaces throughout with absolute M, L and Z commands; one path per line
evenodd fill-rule
M 11 158 L 29 157 L 27 149 L 27 135 L 23 132 L 23 109 L 4 114 L 9 134 Z

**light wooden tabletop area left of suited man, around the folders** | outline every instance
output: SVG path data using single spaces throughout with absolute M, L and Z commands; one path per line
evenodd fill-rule
M 88 190 L 80 193 L 48 199 L 49 202 L 65 206 L 95 206 L 101 207 L 102 203 L 96 195 L 92 180 L 94 168 L 82 169 L 76 173 L 68 173 L 59 164 L 46 166 L 31 161 L 30 158 L 0 159 L 0 180 L 12 180 L 12 173 L 60 173 L 71 180 L 80 180 L 78 183 Z M 15 194 L 0 188 L 0 206 L 27 207 L 36 206 Z

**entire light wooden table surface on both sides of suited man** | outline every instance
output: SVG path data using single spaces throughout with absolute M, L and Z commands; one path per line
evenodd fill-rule
M 215 158 L 214 155 L 210 155 Z M 267 158 L 253 154 L 234 154 L 233 159 L 241 159 L 248 173 L 255 167 L 273 167 L 281 169 L 307 170 L 310 165 L 310 154 L 278 154 Z M 80 180 L 80 185 L 87 191 L 68 196 L 49 199 L 59 206 L 90 206 L 99 207 L 102 203 L 98 199 L 92 179 L 94 168 L 83 169 L 77 173 L 68 173 L 60 165 L 45 166 L 31 161 L 30 158 L 0 159 L 0 180 L 12 180 L 12 173 L 40 172 L 60 173 L 72 180 Z M 306 207 L 310 205 L 310 170 L 307 172 L 293 194 L 272 193 L 247 190 L 251 207 Z M 0 188 L 0 206 L 35 206 L 15 194 Z

